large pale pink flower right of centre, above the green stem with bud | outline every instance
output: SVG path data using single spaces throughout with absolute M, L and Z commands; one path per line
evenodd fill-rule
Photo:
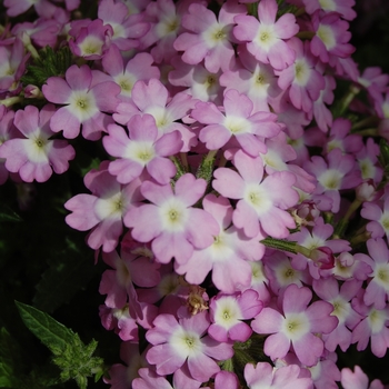
M 295 174 L 277 171 L 263 179 L 262 159 L 252 158 L 242 150 L 236 152 L 233 163 L 239 173 L 219 168 L 212 181 L 213 189 L 219 193 L 239 200 L 232 215 L 233 225 L 243 229 L 249 238 L 261 230 L 275 238 L 288 237 L 288 228 L 296 225 L 286 210 L 295 206 L 299 198 L 292 189 Z

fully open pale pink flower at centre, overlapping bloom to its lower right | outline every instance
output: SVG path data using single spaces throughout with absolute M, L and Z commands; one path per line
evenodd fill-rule
M 150 203 L 132 208 L 124 218 L 132 228 L 132 238 L 140 242 L 151 242 L 156 259 L 168 263 L 173 257 L 184 263 L 194 248 L 210 246 L 219 233 L 219 226 L 207 211 L 192 206 L 203 196 L 207 182 L 187 173 L 174 186 L 144 181 L 141 193 Z M 150 225 L 150 220 L 153 220 Z

